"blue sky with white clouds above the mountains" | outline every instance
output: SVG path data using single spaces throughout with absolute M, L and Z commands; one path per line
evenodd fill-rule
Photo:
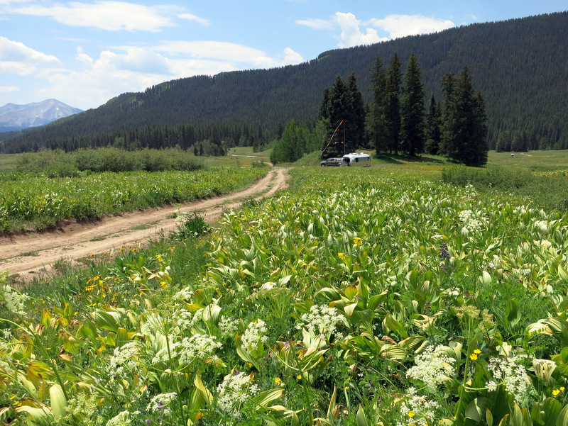
M 568 10 L 568 0 L 0 0 L 0 106 L 96 108 L 193 75 Z

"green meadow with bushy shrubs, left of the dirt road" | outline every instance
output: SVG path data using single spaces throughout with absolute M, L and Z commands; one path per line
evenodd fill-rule
M 244 189 L 266 174 L 261 162 L 206 167 L 177 150 L 50 151 L 7 156 L 4 164 L 10 167 L 0 172 L 0 232 L 187 203 Z

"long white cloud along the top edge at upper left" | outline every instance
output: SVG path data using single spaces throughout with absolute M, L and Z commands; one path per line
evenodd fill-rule
M 94 4 L 71 1 L 54 6 L 23 6 L 13 13 L 32 16 L 48 16 L 59 23 L 74 26 L 118 31 L 159 31 L 165 26 L 174 26 L 165 16 L 164 6 L 148 7 L 124 1 L 97 1 Z

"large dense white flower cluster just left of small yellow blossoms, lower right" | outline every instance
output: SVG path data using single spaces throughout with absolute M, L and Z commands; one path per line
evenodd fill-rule
M 408 369 L 406 376 L 425 383 L 430 391 L 444 384 L 454 376 L 456 360 L 449 357 L 443 346 L 429 346 L 415 358 L 415 366 Z

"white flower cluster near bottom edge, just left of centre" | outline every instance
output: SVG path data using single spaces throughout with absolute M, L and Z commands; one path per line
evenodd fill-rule
M 242 371 L 227 374 L 217 386 L 217 404 L 232 417 L 239 418 L 241 406 L 258 393 L 253 378 Z

